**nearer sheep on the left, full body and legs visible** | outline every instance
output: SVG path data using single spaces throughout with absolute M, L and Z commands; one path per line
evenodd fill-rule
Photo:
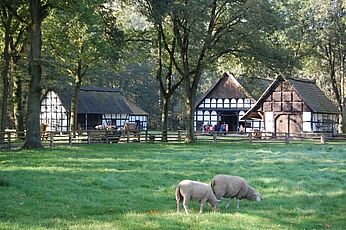
M 186 214 L 189 214 L 189 202 L 190 199 L 197 199 L 200 202 L 200 211 L 203 213 L 203 208 L 206 202 L 208 202 L 214 211 L 218 211 L 218 200 L 216 199 L 212 188 L 209 184 L 192 181 L 183 180 L 181 181 L 176 190 L 175 198 L 177 200 L 177 212 L 180 212 L 180 202 L 184 199 L 183 205 Z

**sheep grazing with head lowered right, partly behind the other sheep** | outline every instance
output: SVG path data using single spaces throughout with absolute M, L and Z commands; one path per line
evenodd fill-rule
M 216 175 L 211 180 L 211 187 L 216 199 L 222 197 L 230 198 L 226 204 L 228 208 L 232 198 L 237 198 L 237 208 L 239 208 L 239 200 L 245 198 L 252 201 L 261 202 L 261 196 L 255 191 L 242 177 L 230 175 Z

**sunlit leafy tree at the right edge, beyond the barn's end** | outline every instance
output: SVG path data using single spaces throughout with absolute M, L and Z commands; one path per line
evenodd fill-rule
M 313 44 L 321 57 L 322 68 L 328 73 L 335 100 L 341 111 L 339 132 L 346 132 L 345 117 L 345 75 L 346 75 L 346 3 L 332 0 L 316 4 L 311 2 L 314 10 L 312 31 L 315 35 Z

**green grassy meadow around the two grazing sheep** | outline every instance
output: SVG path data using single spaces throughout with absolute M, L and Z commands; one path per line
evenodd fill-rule
M 0 229 L 345 229 L 345 144 L 113 144 L 0 152 Z M 261 203 L 176 213 L 183 179 L 240 175 Z

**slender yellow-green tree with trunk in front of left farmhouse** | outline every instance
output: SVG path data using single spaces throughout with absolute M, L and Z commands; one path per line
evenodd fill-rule
M 52 10 L 47 28 L 47 55 L 56 60 L 63 74 L 74 79 L 70 108 L 70 130 L 77 130 L 77 105 L 80 87 L 88 71 L 115 59 L 117 33 L 103 0 L 72 1 Z M 109 56 L 107 56 L 109 55 Z

